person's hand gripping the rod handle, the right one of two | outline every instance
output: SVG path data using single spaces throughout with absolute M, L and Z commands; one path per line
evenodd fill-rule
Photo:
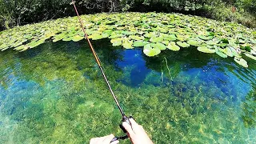
M 127 130 L 130 141 L 133 144 L 153 144 L 146 131 L 138 125 L 133 118 L 130 118 L 131 126 L 127 122 L 122 122 L 122 126 Z

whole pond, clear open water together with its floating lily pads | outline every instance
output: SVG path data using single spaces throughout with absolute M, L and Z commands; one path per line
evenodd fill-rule
M 256 142 L 255 29 L 176 13 L 81 18 L 122 108 L 154 143 Z M 0 143 L 123 135 L 77 17 L 1 31 L 0 50 Z

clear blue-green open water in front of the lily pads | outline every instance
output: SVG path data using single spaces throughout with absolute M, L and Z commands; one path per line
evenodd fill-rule
M 126 115 L 155 143 L 256 142 L 256 64 L 193 47 L 147 58 L 93 42 Z M 86 42 L 0 53 L 0 143 L 88 143 L 122 135 L 121 116 Z M 122 143 L 130 143 L 128 140 Z

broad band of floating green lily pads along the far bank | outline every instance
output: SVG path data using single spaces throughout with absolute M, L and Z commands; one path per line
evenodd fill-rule
M 149 57 L 162 51 L 190 48 L 202 53 L 232 57 L 248 67 L 245 58 L 256 60 L 256 30 L 230 22 L 184 14 L 116 13 L 82 15 L 89 38 L 110 38 L 113 46 L 143 47 Z M 78 19 L 59 18 L 33 25 L 18 26 L 0 33 L 0 50 L 24 51 L 51 39 L 53 42 L 83 39 Z

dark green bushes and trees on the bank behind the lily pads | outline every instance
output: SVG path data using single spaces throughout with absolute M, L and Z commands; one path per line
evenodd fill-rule
M 0 0 L 0 30 L 34 22 L 74 16 L 67 0 Z M 81 0 L 76 2 L 80 14 L 102 12 L 164 12 L 198 15 L 226 22 L 256 27 L 256 0 Z

